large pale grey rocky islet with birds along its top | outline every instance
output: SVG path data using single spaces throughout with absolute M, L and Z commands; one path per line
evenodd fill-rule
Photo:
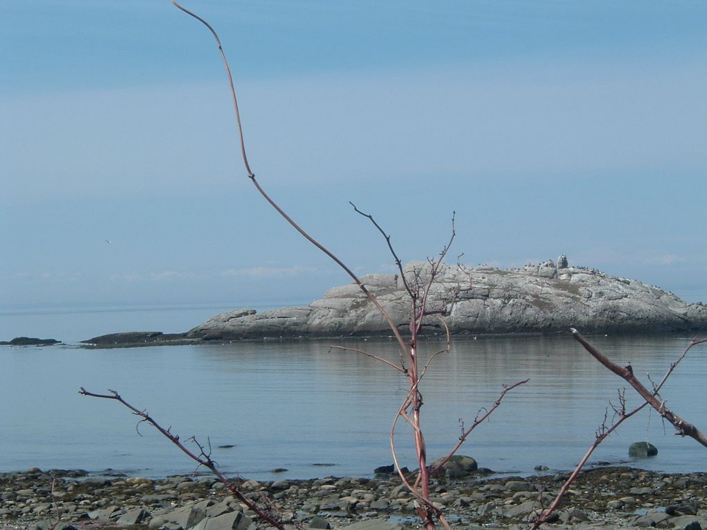
M 403 269 L 409 285 L 430 281 L 431 266 Z M 411 310 L 396 274 L 369 274 L 361 281 L 401 329 Z M 442 266 L 427 305 L 427 334 L 547 333 L 575 327 L 601 332 L 671 332 L 707 329 L 707 306 L 689 304 L 653 285 L 573 267 L 565 256 L 522 269 Z M 376 307 L 351 283 L 334 287 L 310 305 L 257 313 L 219 314 L 187 333 L 201 340 L 300 336 L 385 336 L 390 329 Z

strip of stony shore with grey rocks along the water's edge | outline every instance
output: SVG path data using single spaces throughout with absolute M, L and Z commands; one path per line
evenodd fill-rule
M 0 474 L 0 527 L 56 530 L 256 530 L 264 528 L 214 478 L 76 477 L 81 472 Z M 454 529 L 527 528 L 566 475 L 436 478 L 433 501 Z M 399 478 L 240 481 L 253 500 L 267 495 L 288 526 L 396 530 L 418 526 Z M 629 468 L 580 473 L 546 529 L 707 528 L 707 474 Z M 57 524 L 57 519 L 59 520 Z M 55 526 L 54 526 L 55 525 Z

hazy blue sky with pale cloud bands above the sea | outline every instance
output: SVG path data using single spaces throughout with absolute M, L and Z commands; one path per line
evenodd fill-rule
M 262 186 L 358 273 L 571 265 L 707 302 L 707 3 L 184 0 Z M 321 298 L 168 0 L 4 0 L 0 310 Z

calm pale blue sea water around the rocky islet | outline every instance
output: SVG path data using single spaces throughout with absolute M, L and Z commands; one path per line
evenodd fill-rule
M 38 466 L 115 469 L 141 476 L 194 471 L 187 457 L 113 401 L 79 387 L 115 389 L 182 440 L 211 445 L 227 473 L 257 479 L 370 476 L 390 464 L 389 431 L 406 381 L 395 370 L 329 344 L 395 360 L 393 341 L 257 341 L 225 345 L 84 350 L 76 341 L 114 331 L 185 331 L 230 307 L 150 310 L 52 310 L 0 313 L 0 338 L 59 338 L 66 346 L 0 346 L 0 471 Z M 688 337 L 590 337 L 618 363 L 659 380 Z M 443 343 L 423 343 L 430 355 Z M 700 349 L 701 348 L 701 349 Z M 662 395 L 667 406 L 707 429 L 701 398 L 705 346 L 683 361 Z M 503 384 L 530 377 L 462 448 L 500 473 L 534 466 L 571 469 L 585 453 L 622 379 L 607 372 L 569 336 L 463 338 L 431 365 L 421 391 L 428 454 L 455 443 L 460 421 L 496 400 Z M 645 380 L 645 376 L 643 377 Z M 629 406 L 638 404 L 626 390 Z M 631 461 L 631 442 L 648 440 L 658 456 Z M 414 467 L 409 432 L 396 436 L 400 459 Z M 219 446 L 233 447 L 219 447 Z M 658 471 L 707 471 L 706 449 L 674 436 L 655 413 L 641 412 L 609 437 L 592 461 L 629 462 Z M 328 464 L 323 466 L 322 464 Z M 284 473 L 271 473 L 284 468 Z

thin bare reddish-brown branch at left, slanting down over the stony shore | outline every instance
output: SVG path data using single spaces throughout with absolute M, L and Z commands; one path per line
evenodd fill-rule
M 136 408 L 129 404 L 127 401 L 125 401 L 120 394 L 117 393 L 115 390 L 108 390 L 110 394 L 95 394 L 94 392 L 89 392 L 85 388 L 81 387 L 81 390 L 78 391 L 79 394 L 83 396 L 89 396 L 89 397 L 95 397 L 95 398 L 101 398 L 101 399 L 112 399 L 114 401 L 118 401 L 120 404 L 126 406 L 129 408 L 132 413 L 135 416 L 138 416 L 141 418 L 140 422 L 146 422 L 152 425 L 154 428 L 156 428 L 164 437 L 166 437 L 170 442 L 175 444 L 179 449 L 187 455 L 190 459 L 194 460 L 199 464 L 200 466 L 204 466 L 205 468 L 209 469 L 211 473 L 214 473 L 216 478 L 218 478 L 223 485 L 228 488 L 230 493 L 233 493 L 233 496 L 236 497 L 240 502 L 243 502 L 244 505 L 246 505 L 250 510 L 255 512 L 257 517 L 261 519 L 263 522 L 266 522 L 270 526 L 274 526 L 278 530 L 286 530 L 285 525 L 280 522 L 273 514 L 271 514 L 269 508 L 262 509 L 258 505 L 255 504 L 255 502 L 252 502 L 248 497 L 246 497 L 243 492 L 240 491 L 238 486 L 233 483 L 233 481 L 228 480 L 221 471 L 218 470 L 218 466 L 216 465 L 216 462 L 211 459 L 211 454 L 210 451 L 206 452 L 205 448 L 203 445 L 199 444 L 197 440 L 192 437 L 189 440 L 192 440 L 197 445 L 197 448 L 199 449 L 199 454 L 196 454 L 192 452 L 188 447 L 185 446 L 180 441 L 179 435 L 173 435 L 172 432 L 170 432 L 170 429 L 163 428 L 162 425 L 157 423 L 156 420 L 154 420 L 146 411 L 141 411 L 139 408 Z

